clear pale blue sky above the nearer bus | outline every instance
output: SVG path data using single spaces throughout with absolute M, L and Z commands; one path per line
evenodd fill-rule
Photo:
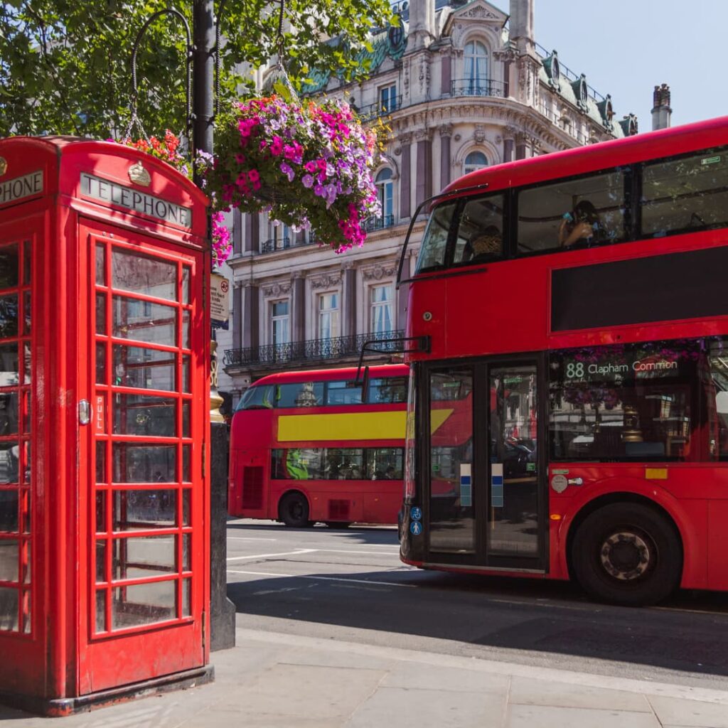
M 508 0 L 491 0 L 508 12 Z M 612 95 L 617 119 L 652 129 L 652 92 L 670 87 L 672 126 L 728 114 L 728 0 L 535 0 L 534 36 L 561 66 Z

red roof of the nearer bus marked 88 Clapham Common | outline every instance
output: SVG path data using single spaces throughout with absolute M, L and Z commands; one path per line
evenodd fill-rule
M 612 139 L 566 151 L 555 151 L 543 154 L 541 157 L 518 159 L 515 162 L 485 167 L 451 182 L 444 192 L 456 194 L 468 187 L 487 184 L 488 187 L 480 193 L 487 194 L 488 191 L 609 169 L 644 159 L 673 157 L 683 152 L 725 144 L 728 144 L 728 116 L 721 116 L 709 121 L 684 124 L 624 139 Z M 441 201 L 438 201 L 438 204 Z

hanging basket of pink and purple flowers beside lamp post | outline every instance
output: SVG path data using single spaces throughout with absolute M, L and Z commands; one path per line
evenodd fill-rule
M 337 253 L 362 245 L 364 221 L 379 214 L 376 134 L 345 103 L 276 95 L 237 103 L 216 132 L 215 151 L 197 161 L 218 208 L 268 212 L 292 229 L 311 229 Z

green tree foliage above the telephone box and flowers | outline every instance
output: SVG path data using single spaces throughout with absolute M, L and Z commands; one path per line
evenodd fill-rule
M 194 1 L 174 5 L 190 25 Z M 129 122 L 132 44 L 150 15 L 165 7 L 166 0 L 5 0 L 0 137 L 120 135 Z M 279 8 L 264 0 L 226 0 L 222 108 L 252 92 L 252 69 L 276 52 Z M 293 24 L 283 37 L 286 66 L 300 88 L 311 68 L 355 78 L 356 53 L 373 26 L 391 20 L 391 11 L 387 0 L 285 0 L 285 17 Z M 344 42 L 322 42 L 336 36 Z M 138 114 L 149 133 L 184 128 L 184 52 L 180 20 L 164 15 L 150 25 L 137 58 Z

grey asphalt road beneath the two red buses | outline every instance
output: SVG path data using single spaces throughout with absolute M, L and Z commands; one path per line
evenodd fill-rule
M 397 531 L 228 522 L 238 625 L 278 633 L 695 687 L 728 686 L 728 594 L 657 607 L 589 601 L 576 585 L 420 571 Z

